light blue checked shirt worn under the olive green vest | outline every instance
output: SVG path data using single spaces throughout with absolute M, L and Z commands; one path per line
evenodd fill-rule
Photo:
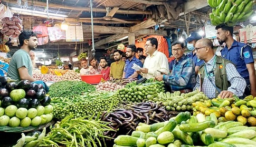
M 215 55 L 216 56 L 216 55 Z M 214 57 L 205 63 L 206 70 L 211 71 L 212 69 L 215 70 L 216 64 L 214 64 Z M 214 65 L 213 65 L 214 64 Z M 214 68 L 213 68 L 214 66 Z M 226 76 L 227 80 L 231 83 L 231 86 L 227 88 L 227 91 L 232 92 L 234 95 L 240 97 L 243 96 L 243 92 L 246 86 L 246 82 L 244 78 L 242 78 L 238 71 L 236 70 L 233 64 L 227 64 L 226 66 Z M 205 75 L 206 76 L 206 75 Z M 210 77 L 212 79 L 213 84 L 215 85 L 215 76 Z M 199 77 L 196 78 L 196 86 L 195 88 L 200 88 Z M 195 90 L 194 88 L 194 90 Z M 215 98 L 215 87 L 212 85 L 208 78 L 204 78 L 204 82 L 202 85 L 202 91 L 208 98 Z

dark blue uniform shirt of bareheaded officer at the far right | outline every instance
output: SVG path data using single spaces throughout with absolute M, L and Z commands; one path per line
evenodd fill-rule
M 225 46 L 221 50 L 221 57 L 232 61 L 241 77 L 243 77 L 247 85 L 249 85 L 249 71 L 246 67 L 246 64 L 254 63 L 254 60 L 252 55 L 252 48 L 250 46 L 246 46 L 243 48 L 243 59 L 241 58 L 241 48 L 244 45 L 244 43 L 239 43 L 238 41 L 234 40 L 230 49 L 227 49 L 227 46 Z

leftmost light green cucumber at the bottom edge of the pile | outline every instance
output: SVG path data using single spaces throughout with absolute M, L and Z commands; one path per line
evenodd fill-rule
M 131 137 L 129 135 L 119 135 L 115 138 L 114 143 L 122 146 L 135 146 L 139 138 Z

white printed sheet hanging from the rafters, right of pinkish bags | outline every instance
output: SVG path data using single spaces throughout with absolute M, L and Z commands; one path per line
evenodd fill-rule
M 69 24 L 66 30 L 66 41 L 83 41 L 82 23 Z

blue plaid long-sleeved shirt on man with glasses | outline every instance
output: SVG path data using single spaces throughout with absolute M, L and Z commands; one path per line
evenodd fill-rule
M 172 90 L 193 89 L 196 84 L 195 66 L 193 60 L 183 55 L 178 61 L 175 59 L 171 63 L 172 72 L 164 75 L 163 80 L 170 83 Z

